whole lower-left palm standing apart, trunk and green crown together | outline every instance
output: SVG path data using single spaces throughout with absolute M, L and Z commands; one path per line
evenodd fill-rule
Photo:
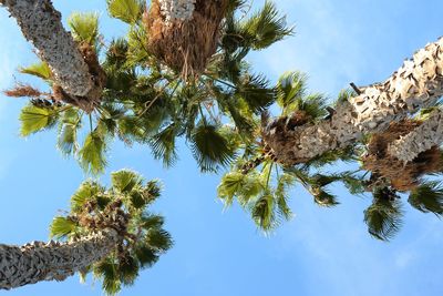
M 116 294 L 172 247 L 163 217 L 146 212 L 158 196 L 156 181 L 144 182 L 127 170 L 113 173 L 107 190 L 84 182 L 71 197 L 70 213 L 51 225 L 58 242 L 0 245 L 0 288 L 93 273 L 106 294 Z

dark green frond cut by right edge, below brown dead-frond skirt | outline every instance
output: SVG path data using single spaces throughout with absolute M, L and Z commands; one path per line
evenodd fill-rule
M 423 213 L 443 215 L 443 186 L 439 182 L 426 182 L 413 190 L 408 202 Z

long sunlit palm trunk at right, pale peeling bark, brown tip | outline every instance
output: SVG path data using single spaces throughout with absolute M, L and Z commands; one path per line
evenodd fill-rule
M 272 123 L 264 131 L 264 140 L 286 164 L 306 162 L 334 149 L 346 147 L 364 133 L 388 129 L 420 108 L 429 106 L 443 94 L 443 39 L 419 50 L 413 59 L 387 81 L 361 89 L 348 102 L 339 103 L 330 120 L 276 129 Z

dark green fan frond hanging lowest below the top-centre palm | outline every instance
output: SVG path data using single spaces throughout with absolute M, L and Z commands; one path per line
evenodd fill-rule
M 214 124 L 200 122 L 190 136 L 192 152 L 203 172 L 216 172 L 228 165 L 235 151 Z

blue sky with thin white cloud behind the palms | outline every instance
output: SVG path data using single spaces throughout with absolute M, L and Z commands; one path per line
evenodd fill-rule
M 61 1 L 73 10 L 101 11 L 102 32 L 123 35 L 103 0 Z M 255 6 L 264 1 L 256 0 Z M 385 79 L 426 42 L 443 35 L 440 0 L 279 0 L 297 34 L 254 53 L 257 71 L 276 80 L 287 70 L 310 76 L 310 88 L 337 95 L 353 81 Z M 34 61 L 17 24 L 0 10 L 0 89 L 12 85 L 18 65 Z M 22 78 L 18 78 L 22 79 Z M 0 94 L 0 242 L 45 241 L 48 225 L 84 180 L 72 160 L 55 150 L 53 132 L 20 139 L 18 113 L 23 102 Z M 389 244 L 372 239 L 363 223 L 370 198 L 336 188 L 341 205 L 319 208 L 302 188 L 291 192 L 296 217 L 266 237 L 238 206 L 227 211 L 216 198 L 219 176 L 200 175 L 188 153 L 165 171 L 147 147 L 115 143 L 109 173 L 130 167 L 165 184 L 155 211 L 166 216 L 175 247 L 122 295 L 442 295 L 443 223 L 405 204 L 402 232 Z M 41 283 L 0 295 L 101 295 L 100 285 L 78 277 Z

